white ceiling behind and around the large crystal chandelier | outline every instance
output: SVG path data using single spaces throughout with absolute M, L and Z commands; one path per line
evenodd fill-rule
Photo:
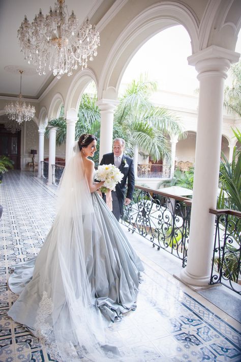
M 17 38 L 18 28 L 24 15 L 32 22 L 41 7 L 43 15 L 54 7 L 56 0 L 0 0 L 0 96 L 17 96 L 20 91 L 20 73 L 22 75 L 22 94 L 24 97 L 38 98 L 54 78 L 51 72 L 38 75 L 33 65 L 28 65 Z M 66 0 L 68 12 L 74 10 L 79 25 L 102 3 L 101 0 Z M 93 24 L 94 25 L 94 24 Z M 5 68 L 10 67 L 10 72 Z M 28 75 L 27 73 L 31 73 Z

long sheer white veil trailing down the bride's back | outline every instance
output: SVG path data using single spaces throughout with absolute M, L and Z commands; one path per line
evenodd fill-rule
M 76 143 L 59 185 L 57 213 L 47 236 L 49 260 L 42 275 L 43 298 L 35 324 L 35 334 L 47 351 L 65 362 L 123 360 L 115 348 L 106 345 L 106 325 L 86 272 L 86 263 L 94 262 L 92 239 L 99 236 Z

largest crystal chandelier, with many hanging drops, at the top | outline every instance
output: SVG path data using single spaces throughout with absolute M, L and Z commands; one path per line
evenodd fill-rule
M 100 45 L 99 32 L 86 20 L 78 28 L 78 19 L 74 11 L 69 16 L 65 0 L 57 0 L 54 8 L 44 17 L 42 10 L 32 23 L 24 20 L 18 30 L 21 51 L 25 60 L 37 66 L 39 75 L 45 74 L 49 62 L 49 70 L 60 78 L 62 74 L 73 74 L 77 64 L 87 67 L 87 58 L 93 60 Z

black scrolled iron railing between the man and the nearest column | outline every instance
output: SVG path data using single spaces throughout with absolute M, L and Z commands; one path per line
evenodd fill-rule
M 122 224 L 139 233 L 153 246 L 167 250 L 187 263 L 191 200 L 135 186 L 134 197 L 125 206 Z

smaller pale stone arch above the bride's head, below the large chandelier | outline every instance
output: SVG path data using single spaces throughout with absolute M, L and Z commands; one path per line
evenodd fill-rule
M 81 100 L 81 96 L 83 94 L 84 89 L 91 81 L 95 82 L 96 88 L 98 89 L 97 85 L 97 78 L 93 70 L 91 69 L 84 69 L 80 70 L 73 78 L 71 85 L 69 87 L 69 91 L 66 97 L 65 103 L 65 115 L 70 113 L 75 115 L 78 114 L 79 103 Z

